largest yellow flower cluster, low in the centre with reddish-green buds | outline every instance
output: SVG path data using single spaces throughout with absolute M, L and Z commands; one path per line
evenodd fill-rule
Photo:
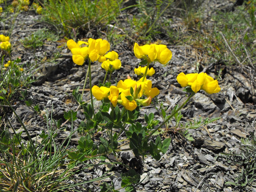
M 150 105 L 152 98 L 159 94 L 159 90 L 156 87 L 152 88 L 152 81 L 145 79 L 142 82 L 141 78 L 139 81 L 120 80 L 116 86 L 110 86 L 110 88 L 95 85 L 92 87 L 92 94 L 97 100 L 108 98 L 114 107 L 119 103 L 125 109 L 132 111 L 137 107 L 137 102 L 143 106 Z M 142 95 L 148 98 L 140 99 Z

